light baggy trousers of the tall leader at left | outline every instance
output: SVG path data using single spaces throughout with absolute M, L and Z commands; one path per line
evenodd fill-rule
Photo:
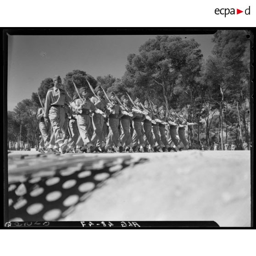
M 49 119 L 53 128 L 55 143 L 58 143 L 61 146 L 64 140 L 62 133 L 63 124 L 65 122 L 64 108 L 52 106 L 49 110 Z

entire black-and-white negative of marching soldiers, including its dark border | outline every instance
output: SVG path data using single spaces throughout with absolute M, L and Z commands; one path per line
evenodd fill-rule
M 251 227 L 253 33 L 61 32 L 6 34 L 5 225 Z

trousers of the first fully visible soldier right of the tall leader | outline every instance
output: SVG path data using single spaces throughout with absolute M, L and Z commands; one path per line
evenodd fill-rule
M 83 139 L 83 144 L 90 147 L 92 143 L 88 130 L 91 126 L 91 118 L 89 115 L 77 115 L 77 123 L 80 136 Z

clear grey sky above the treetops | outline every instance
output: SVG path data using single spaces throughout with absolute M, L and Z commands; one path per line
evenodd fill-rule
M 180 35 L 194 38 L 207 58 L 213 35 Z M 139 53 L 139 46 L 155 35 L 12 35 L 8 36 L 7 110 L 30 99 L 45 78 L 79 69 L 92 75 L 111 74 L 121 78 L 127 56 Z

